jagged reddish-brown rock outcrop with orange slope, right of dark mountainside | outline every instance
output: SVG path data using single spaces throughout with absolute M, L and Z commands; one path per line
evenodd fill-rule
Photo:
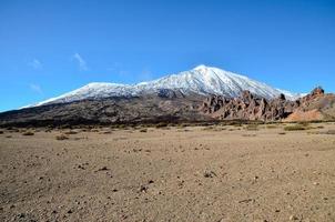
M 325 94 L 322 88 L 296 101 L 286 100 L 284 94 L 266 100 L 244 91 L 238 98 L 211 95 L 203 102 L 201 111 L 219 120 L 311 121 L 334 119 L 334 101 L 335 95 Z

